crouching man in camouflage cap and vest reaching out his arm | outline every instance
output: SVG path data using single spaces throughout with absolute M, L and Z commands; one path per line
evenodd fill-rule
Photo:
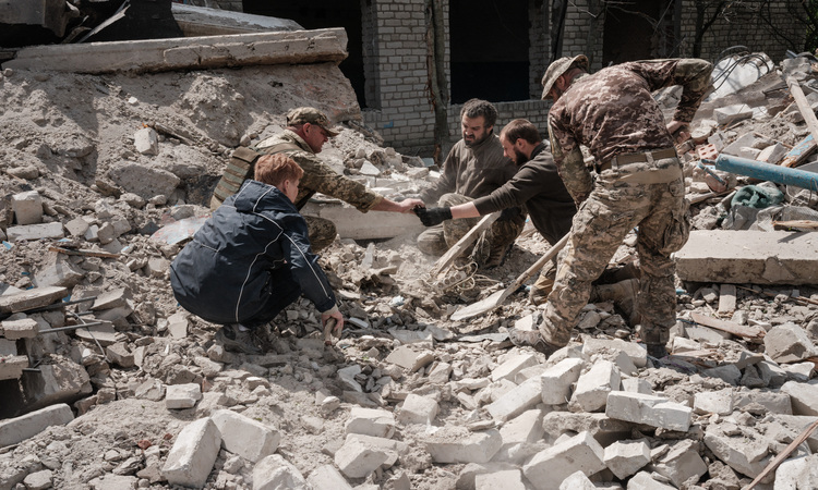
M 338 135 L 333 130 L 327 117 L 320 110 L 311 107 L 300 107 L 287 112 L 287 128 L 273 137 L 261 142 L 255 147 L 248 150 L 240 148 L 233 154 L 231 163 L 237 158 L 251 166 L 257 155 L 286 154 L 293 159 L 304 171 L 301 183 L 298 187 L 298 197 L 296 198 L 296 208 L 306 205 L 315 193 L 322 193 L 335 197 L 345 203 L 354 206 L 359 211 L 392 211 L 392 212 L 411 212 L 416 206 L 423 206 L 420 199 L 405 199 L 400 203 L 390 200 L 381 194 L 368 188 L 360 182 L 356 182 L 335 172 L 329 166 L 321 161 L 316 156 L 321 152 L 324 143 L 330 137 Z M 242 157 L 240 150 L 248 154 Z M 238 157 L 237 157 L 237 154 Z M 238 163 L 242 163 L 242 161 Z M 252 173 L 250 173 L 252 174 Z M 241 181 L 246 177 L 245 174 L 238 179 L 238 187 Z M 216 186 L 210 209 L 216 209 L 221 201 L 232 194 L 230 183 L 236 181 L 236 175 L 231 174 L 230 166 Z M 232 183 L 232 186 L 236 186 Z M 238 189 L 238 187 L 236 187 Z M 234 191 L 233 191 L 234 192 Z M 304 216 L 310 234 L 310 243 L 313 252 L 318 252 L 329 246 L 337 234 L 335 224 L 325 219 L 312 216 Z

